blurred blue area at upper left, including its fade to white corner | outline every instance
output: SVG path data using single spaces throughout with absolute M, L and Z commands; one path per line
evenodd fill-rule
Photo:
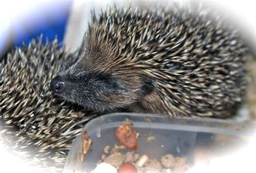
M 0 55 L 41 34 L 63 40 L 71 6 L 72 0 L 1 1 Z

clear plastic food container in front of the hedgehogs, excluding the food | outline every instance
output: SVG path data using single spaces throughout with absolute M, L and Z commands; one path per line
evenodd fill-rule
M 104 154 L 105 146 L 113 148 L 115 144 L 120 145 L 115 132 L 126 119 L 133 121 L 132 128 L 140 134 L 138 150 L 134 153 L 147 154 L 157 159 L 171 153 L 174 156 L 187 157 L 190 164 L 195 162 L 197 148 L 211 148 L 211 152 L 217 154 L 225 147 L 231 149 L 229 143 L 233 147 L 242 146 L 255 127 L 255 124 L 208 118 L 169 118 L 137 113 L 107 114 L 85 125 L 83 132 L 86 130 L 92 140 L 87 154 L 83 156 L 82 135 L 73 141 L 64 172 L 91 172 Z M 149 136 L 154 136 L 156 140 L 147 141 Z M 128 150 L 124 149 L 122 153 Z

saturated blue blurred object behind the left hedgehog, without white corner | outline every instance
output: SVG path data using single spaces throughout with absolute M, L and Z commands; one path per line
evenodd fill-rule
M 43 34 L 43 42 L 46 38 L 49 41 L 55 39 L 56 35 L 58 41 L 63 41 L 71 5 L 72 1 L 45 2 L 41 7 L 44 10 L 35 11 L 35 16 L 31 16 L 29 20 L 25 19 L 30 21 L 30 24 L 24 25 L 17 21 L 14 25 L 14 45 L 21 46 L 22 42 L 28 45 L 31 38 L 37 38 L 41 34 Z

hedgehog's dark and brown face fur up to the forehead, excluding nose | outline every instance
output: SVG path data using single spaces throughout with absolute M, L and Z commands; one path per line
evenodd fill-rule
M 114 68 L 114 62 L 108 61 L 117 55 L 90 39 L 94 38 L 85 37 L 76 59 L 59 68 L 58 80 L 64 86 L 58 96 L 90 110 L 105 111 L 127 107 L 152 90 L 152 83 L 137 69 Z

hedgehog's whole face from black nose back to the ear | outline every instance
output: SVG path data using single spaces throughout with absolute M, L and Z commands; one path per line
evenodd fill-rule
M 51 81 L 51 89 L 59 97 L 95 111 L 128 107 L 141 97 L 144 82 L 136 74 L 100 71 L 97 65 L 91 68 L 84 57 L 69 61 Z

